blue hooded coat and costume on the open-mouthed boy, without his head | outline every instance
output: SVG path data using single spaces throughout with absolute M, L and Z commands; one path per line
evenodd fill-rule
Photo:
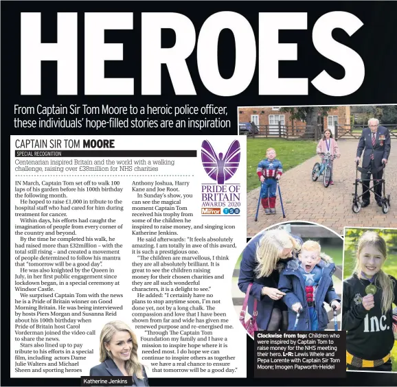
M 327 262 L 325 257 L 321 254 L 321 261 L 310 273 L 304 272 L 297 259 L 289 261 L 282 270 L 278 288 L 286 293 L 282 300 L 288 307 L 288 330 L 293 329 L 296 319 L 293 304 L 301 303 L 303 307 L 297 331 L 324 331 L 329 322 L 324 301 L 329 304 L 334 300 L 341 302 L 332 282 L 335 265 Z

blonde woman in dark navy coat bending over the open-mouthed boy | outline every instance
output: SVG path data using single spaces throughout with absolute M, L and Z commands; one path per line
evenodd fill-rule
M 302 239 L 290 235 L 282 228 L 264 231 L 253 237 L 242 253 L 238 288 L 249 292 L 248 312 L 253 313 L 256 298 L 258 328 L 267 331 L 286 330 L 288 309 L 282 302 L 285 293 L 277 289 L 280 272 L 285 263 L 296 256 Z

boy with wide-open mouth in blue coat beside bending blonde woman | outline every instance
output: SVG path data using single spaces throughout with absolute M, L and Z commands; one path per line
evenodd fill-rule
M 293 330 L 296 314 L 301 309 L 297 331 L 324 331 L 328 315 L 324 301 L 341 309 L 341 300 L 334 291 L 332 274 L 335 265 L 332 259 L 321 253 L 321 246 L 315 241 L 302 245 L 299 260 L 287 263 L 280 274 L 278 288 L 286 293 L 283 297 L 288 307 L 288 330 Z

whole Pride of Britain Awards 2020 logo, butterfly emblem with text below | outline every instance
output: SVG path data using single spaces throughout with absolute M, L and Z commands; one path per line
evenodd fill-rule
M 240 215 L 240 184 L 226 183 L 240 163 L 240 143 L 234 140 L 225 156 L 218 155 L 209 141 L 201 144 L 205 173 L 216 183 L 201 185 L 201 215 Z

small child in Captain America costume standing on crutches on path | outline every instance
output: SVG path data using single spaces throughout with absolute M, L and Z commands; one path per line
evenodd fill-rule
M 262 184 L 260 198 L 266 215 L 275 213 L 277 180 L 280 180 L 282 175 L 282 163 L 280 160 L 277 160 L 275 156 L 275 150 L 273 148 L 268 148 L 266 150 L 266 159 L 260 161 L 258 169 L 256 169 L 256 173 Z

